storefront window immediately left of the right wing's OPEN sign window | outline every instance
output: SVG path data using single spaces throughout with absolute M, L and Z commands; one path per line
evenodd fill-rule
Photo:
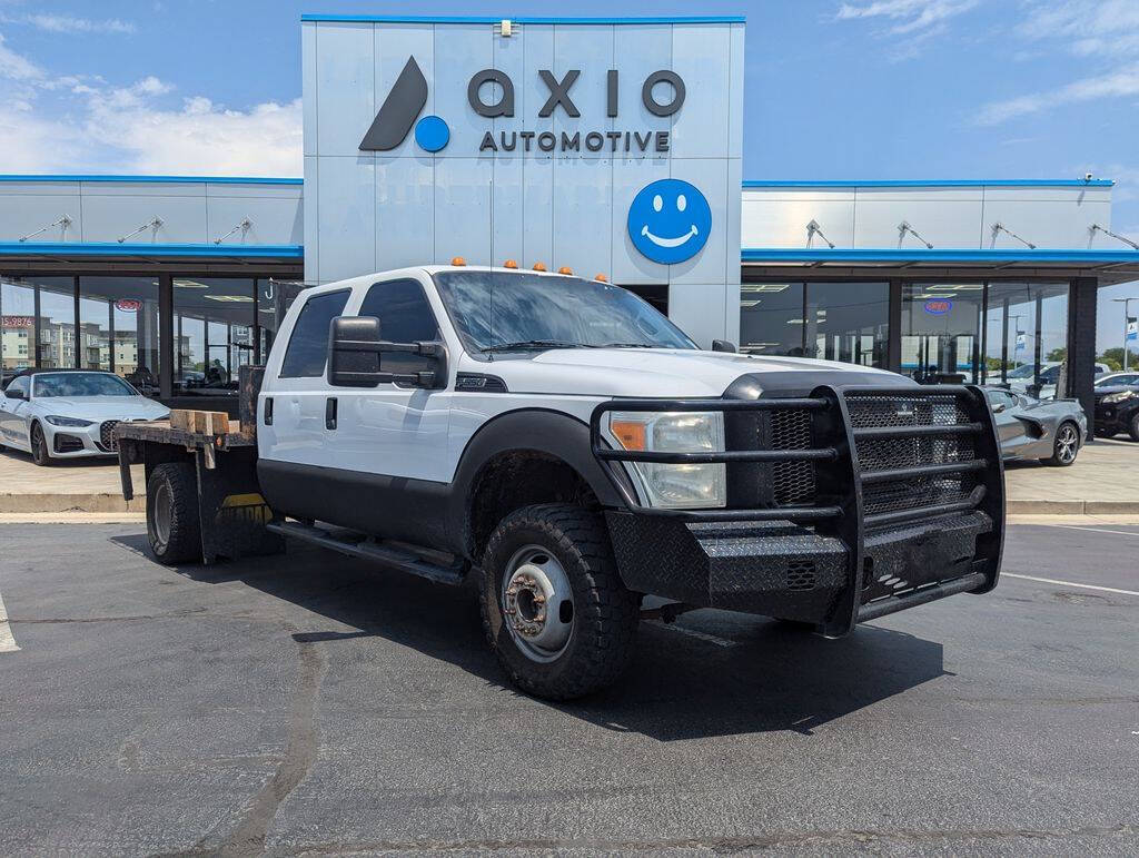
M 890 284 L 806 284 L 806 357 L 885 367 Z

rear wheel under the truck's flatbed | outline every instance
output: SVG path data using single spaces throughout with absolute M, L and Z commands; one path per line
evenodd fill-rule
M 158 563 L 174 566 L 202 559 L 198 485 L 194 465 L 158 465 L 146 483 L 146 536 Z

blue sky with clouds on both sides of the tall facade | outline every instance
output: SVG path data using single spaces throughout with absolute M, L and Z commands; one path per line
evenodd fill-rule
M 1139 238 L 1139 0 L 0 0 L 0 171 L 300 174 L 302 11 L 746 15 L 745 177 L 1091 172 Z

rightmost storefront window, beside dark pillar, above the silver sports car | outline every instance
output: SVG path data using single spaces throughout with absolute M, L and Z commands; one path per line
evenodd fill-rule
M 993 283 L 985 313 L 989 384 L 1050 399 L 1067 358 L 1066 283 Z

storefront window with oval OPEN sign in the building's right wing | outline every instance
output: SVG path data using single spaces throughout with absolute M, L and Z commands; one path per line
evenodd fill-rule
M 980 381 L 984 284 L 902 286 L 904 375 L 927 384 Z

